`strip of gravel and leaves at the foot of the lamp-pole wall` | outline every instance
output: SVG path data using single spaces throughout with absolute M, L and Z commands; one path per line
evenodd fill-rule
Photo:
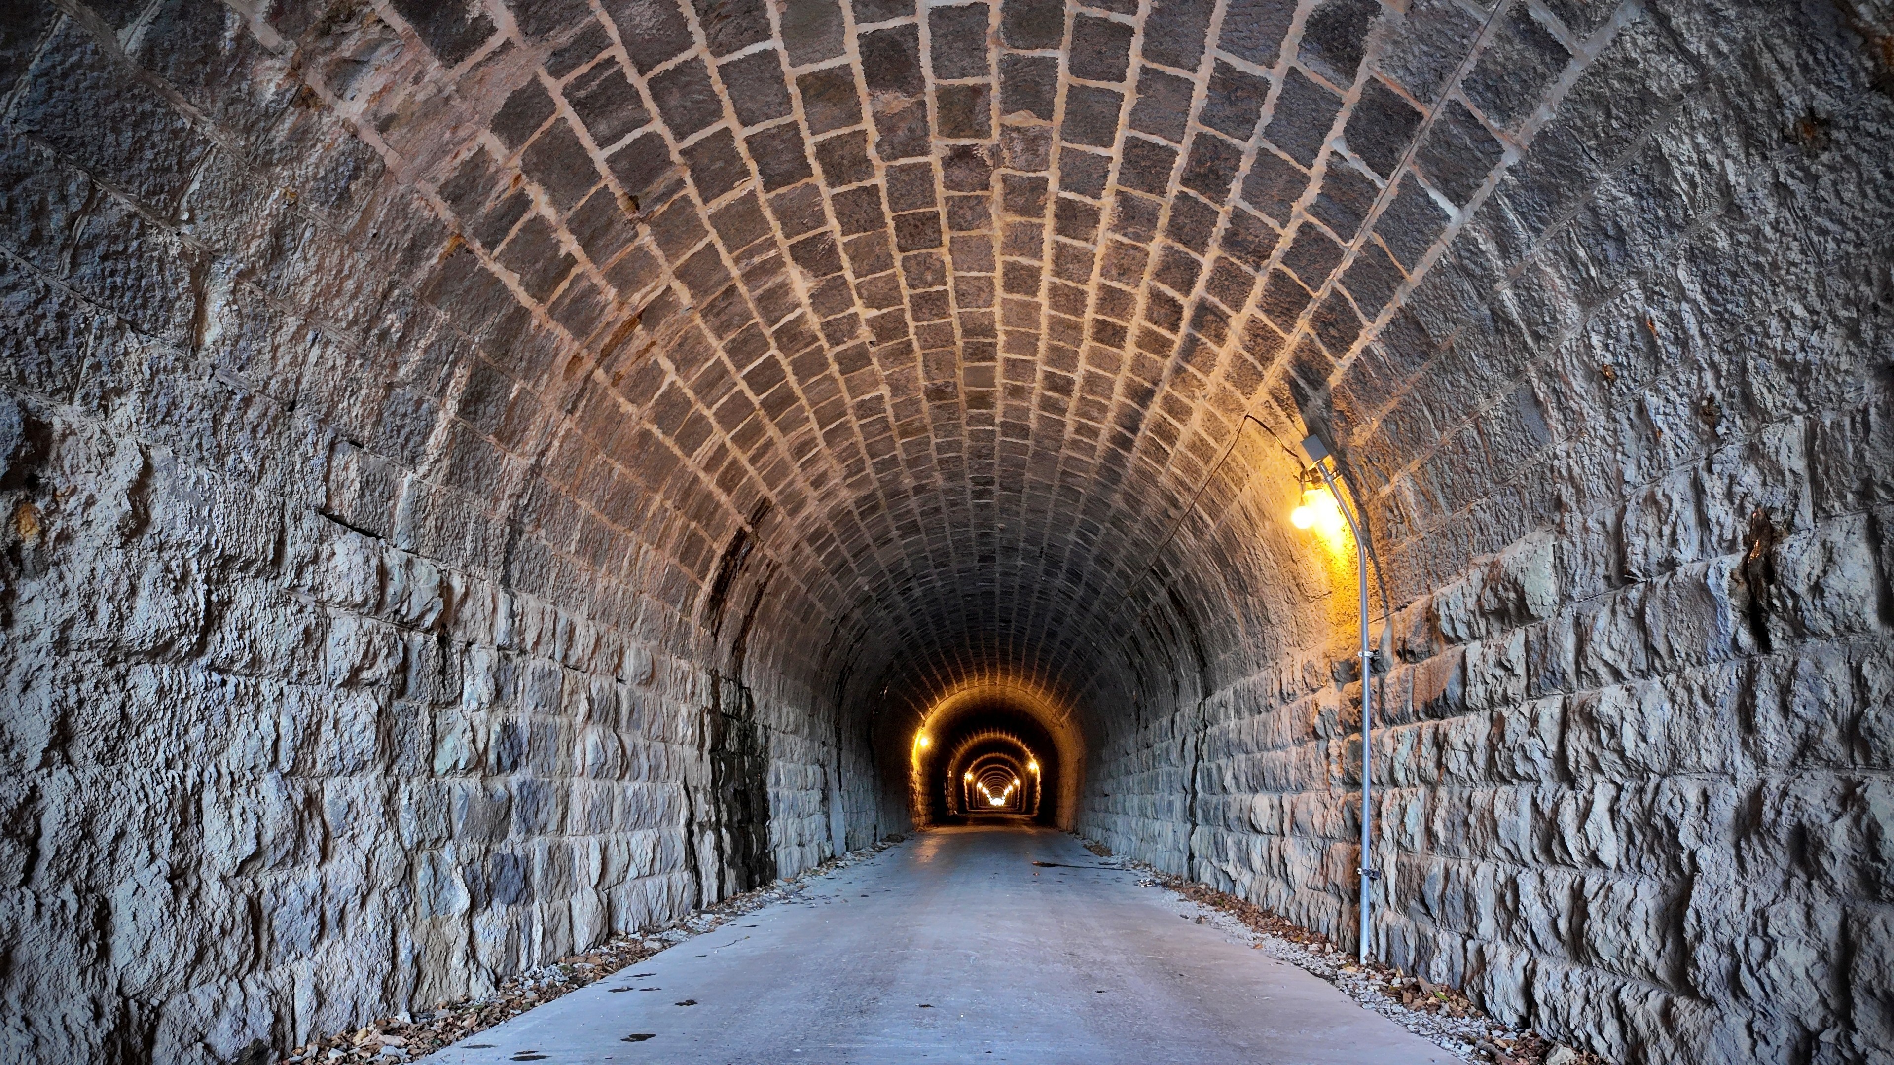
M 1085 849 L 1110 858 L 1112 849 L 1081 839 Z M 1165 887 L 1182 898 L 1220 913 L 1225 930 L 1248 932 L 1258 949 L 1286 961 L 1333 984 L 1350 999 L 1392 1020 L 1420 1038 L 1432 1040 L 1462 1061 L 1491 1065 L 1606 1065 L 1602 1057 L 1561 1046 L 1534 1031 L 1500 1023 L 1485 1014 L 1456 987 L 1434 984 L 1424 976 L 1409 976 L 1386 965 L 1360 965 L 1352 953 L 1337 948 L 1328 936 L 1278 917 L 1235 894 L 1157 872 L 1153 866 L 1117 858 L 1127 870 L 1140 872 L 1138 887 Z M 1195 923 L 1222 925 L 1199 913 Z

